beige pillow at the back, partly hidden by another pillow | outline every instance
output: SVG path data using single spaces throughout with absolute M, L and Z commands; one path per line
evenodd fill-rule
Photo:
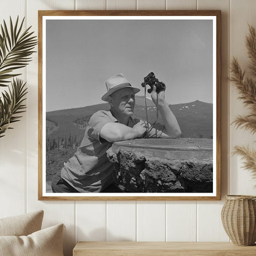
M 38 210 L 30 214 L 0 218 L 0 236 L 27 236 L 41 230 L 44 212 Z

